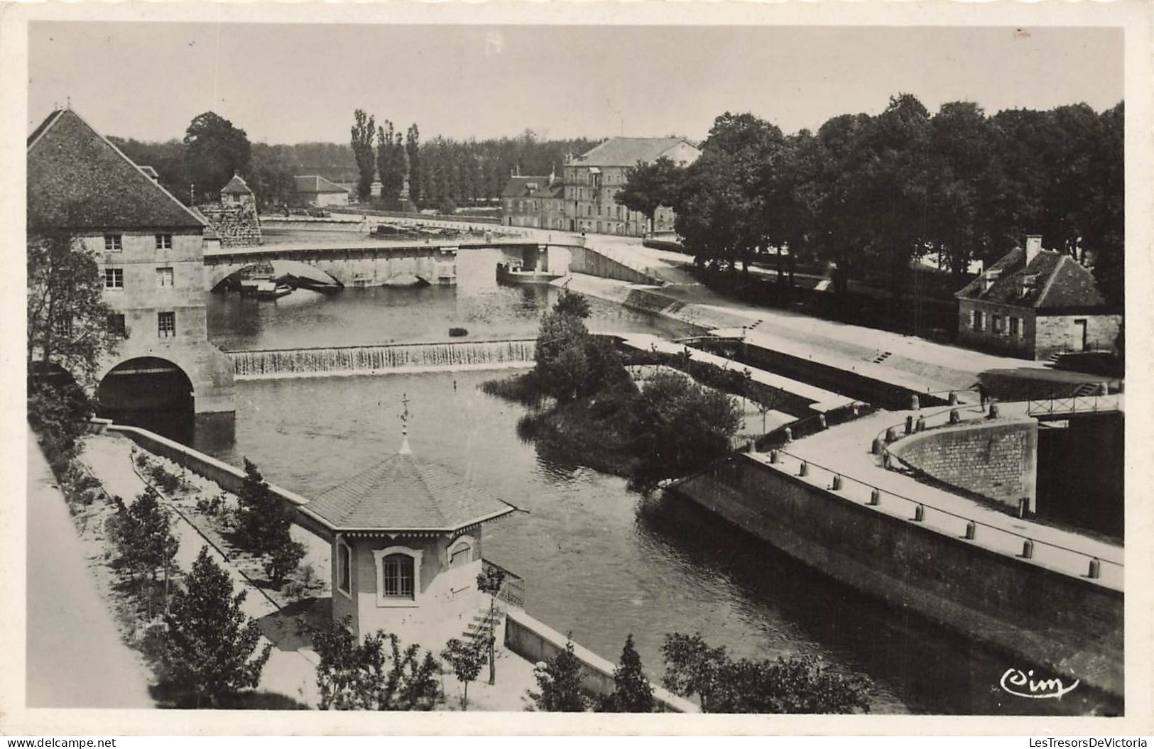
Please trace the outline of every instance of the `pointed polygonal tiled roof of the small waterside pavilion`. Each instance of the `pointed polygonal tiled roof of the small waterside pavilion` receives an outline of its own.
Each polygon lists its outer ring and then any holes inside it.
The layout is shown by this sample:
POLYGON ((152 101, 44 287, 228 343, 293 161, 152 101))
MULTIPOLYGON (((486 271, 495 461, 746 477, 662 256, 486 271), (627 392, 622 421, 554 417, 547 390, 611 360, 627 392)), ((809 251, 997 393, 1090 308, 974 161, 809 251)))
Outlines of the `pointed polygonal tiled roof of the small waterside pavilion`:
POLYGON ((516 508, 447 469, 413 457, 405 440, 388 459, 306 505, 334 531, 452 532, 516 508))

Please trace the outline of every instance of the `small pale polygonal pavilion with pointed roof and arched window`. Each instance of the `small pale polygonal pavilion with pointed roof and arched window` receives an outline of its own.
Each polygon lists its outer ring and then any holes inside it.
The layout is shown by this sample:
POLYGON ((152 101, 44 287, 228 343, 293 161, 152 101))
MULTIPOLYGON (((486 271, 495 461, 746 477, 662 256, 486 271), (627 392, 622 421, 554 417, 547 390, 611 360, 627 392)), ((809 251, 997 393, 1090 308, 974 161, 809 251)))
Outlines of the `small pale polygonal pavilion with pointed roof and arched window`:
POLYGON ((361 636, 383 629, 405 642, 462 637, 488 606, 477 577, 481 530, 516 508, 400 449, 300 508, 331 544, 332 616, 361 636))

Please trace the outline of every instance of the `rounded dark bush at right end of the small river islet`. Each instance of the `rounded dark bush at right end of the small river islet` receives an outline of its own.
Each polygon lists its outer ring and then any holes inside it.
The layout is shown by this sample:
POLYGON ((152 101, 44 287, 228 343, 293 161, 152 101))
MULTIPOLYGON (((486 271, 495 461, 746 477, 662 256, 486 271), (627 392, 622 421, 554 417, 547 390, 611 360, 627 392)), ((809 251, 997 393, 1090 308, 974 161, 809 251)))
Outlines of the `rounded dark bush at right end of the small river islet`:
POLYGON ((631 451, 640 456, 634 484, 644 489, 726 455, 741 414, 726 394, 677 372, 659 372, 634 402, 630 424, 631 451))

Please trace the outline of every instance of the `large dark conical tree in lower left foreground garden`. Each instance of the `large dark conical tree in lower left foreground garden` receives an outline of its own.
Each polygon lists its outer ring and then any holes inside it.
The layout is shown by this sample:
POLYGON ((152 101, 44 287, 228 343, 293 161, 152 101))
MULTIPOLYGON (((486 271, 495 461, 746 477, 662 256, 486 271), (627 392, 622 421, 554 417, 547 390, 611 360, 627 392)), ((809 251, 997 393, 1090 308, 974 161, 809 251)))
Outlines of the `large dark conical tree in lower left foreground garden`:
POLYGON ((272 645, 267 643, 254 658, 261 629, 241 609, 245 594, 233 594, 232 579, 205 546, 185 578, 185 589, 172 597, 162 673, 192 706, 218 706, 260 682, 272 645))

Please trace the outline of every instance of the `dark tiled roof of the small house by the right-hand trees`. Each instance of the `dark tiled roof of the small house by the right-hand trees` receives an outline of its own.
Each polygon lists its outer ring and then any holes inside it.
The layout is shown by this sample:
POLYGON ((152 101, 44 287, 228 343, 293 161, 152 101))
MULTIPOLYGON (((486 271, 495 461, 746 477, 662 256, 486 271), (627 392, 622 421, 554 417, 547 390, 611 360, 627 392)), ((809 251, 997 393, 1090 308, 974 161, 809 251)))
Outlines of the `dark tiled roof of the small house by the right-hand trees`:
POLYGON ((1106 305, 1093 274, 1073 257, 1043 249, 1027 267, 1026 250, 1020 247, 1011 249, 954 295, 958 299, 1032 307, 1039 312, 1106 305), (989 289, 986 287, 987 279, 992 280, 989 289))

